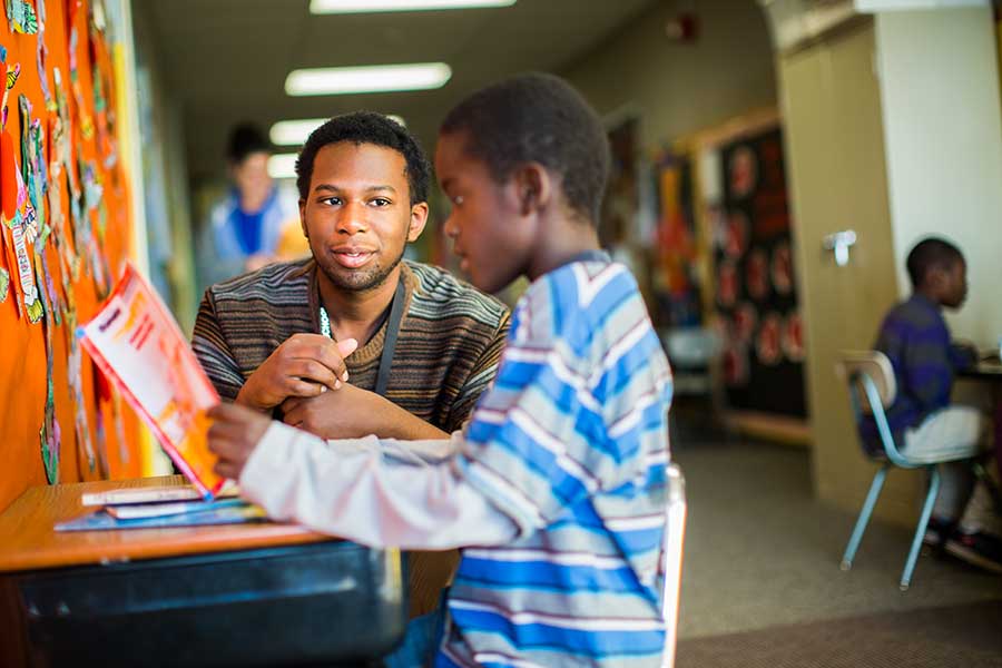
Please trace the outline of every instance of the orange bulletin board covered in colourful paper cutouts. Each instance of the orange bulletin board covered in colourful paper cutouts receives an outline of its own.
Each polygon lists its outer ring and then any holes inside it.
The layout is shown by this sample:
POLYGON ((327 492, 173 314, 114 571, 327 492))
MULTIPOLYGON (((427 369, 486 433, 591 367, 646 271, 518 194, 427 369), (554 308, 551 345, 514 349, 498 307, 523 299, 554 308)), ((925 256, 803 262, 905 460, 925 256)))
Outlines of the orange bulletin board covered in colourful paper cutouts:
POLYGON ((3 0, 0 510, 28 487, 138 477, 138 422, 75 337, 131 243, 100 0, 3 0))

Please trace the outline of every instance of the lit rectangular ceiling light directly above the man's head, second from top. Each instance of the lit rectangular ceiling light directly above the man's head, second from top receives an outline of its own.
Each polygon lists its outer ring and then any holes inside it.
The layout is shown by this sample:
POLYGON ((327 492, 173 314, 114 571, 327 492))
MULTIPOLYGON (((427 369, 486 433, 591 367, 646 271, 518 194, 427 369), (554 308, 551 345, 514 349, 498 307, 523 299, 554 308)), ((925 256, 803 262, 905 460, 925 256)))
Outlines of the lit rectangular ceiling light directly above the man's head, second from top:
POLYGON ((444 62, 303 69, 288 73, 285 92, 304 96, 431 90, 444 86, 451 76, 452 68, 444 62))

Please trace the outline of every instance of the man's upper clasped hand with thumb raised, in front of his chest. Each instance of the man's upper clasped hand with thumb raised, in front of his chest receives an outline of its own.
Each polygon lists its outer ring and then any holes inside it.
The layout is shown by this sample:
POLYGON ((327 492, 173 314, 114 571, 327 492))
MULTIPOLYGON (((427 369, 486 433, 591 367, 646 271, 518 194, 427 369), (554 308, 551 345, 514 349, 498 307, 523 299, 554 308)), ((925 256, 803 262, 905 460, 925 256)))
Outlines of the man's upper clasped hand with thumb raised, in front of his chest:
POLYGON ((338 390, 347 382, 344 358, 356 347, 354 338, 334 343, 320 334, 293 334, 250 374, 236 403, 267 412, 289 396, 338 390))

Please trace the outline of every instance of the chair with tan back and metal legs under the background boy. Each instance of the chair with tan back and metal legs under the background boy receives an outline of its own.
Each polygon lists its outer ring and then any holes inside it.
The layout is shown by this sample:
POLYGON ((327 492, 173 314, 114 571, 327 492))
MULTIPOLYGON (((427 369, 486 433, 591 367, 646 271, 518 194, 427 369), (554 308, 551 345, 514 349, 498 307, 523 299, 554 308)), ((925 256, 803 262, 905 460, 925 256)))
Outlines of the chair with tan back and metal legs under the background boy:
POLYGON ((953 453, 935 461, 931 461, 929 458, 922 458, 921 461, 910 459, 906 453, 898 449, 891 433, 891 428, 887 425, 887 416, 884 413, 884 410, 894 403, 894 397, 897 395, 894 369, 891 366, 891 361, 886 355, 877 351, 845 351, 842 353, 842 360, 836 365, 836 371, 848 382, 849 399, 856 424, 864 416, 873 415, 877 425, 877 432, 881 435, 882 445, 882 452, 873 458, 874 461, 881 464, 881 468, 877 469, 876 474, 873 477, 870 493, 866 494, 863 509, 859 511, 859 518, 856 520, 848 546, 845 548, 845 554, 842 558, 842 570, 849 570, 853 566, 856 550, 863 540, 863 532, 870 522, 870 515, 873 513, 881 489, 884 487, 884 479, 887 477, 887 471, 891 466, 925 469, 929 472, 929 492, 925 494, 925 502, 918 517, 918 525, 915 528, 908 558, 905 561, 904 571, 901 573, 900 587, 902 591, 905 591, 911 584, 915 561, 918 559, 918 550, 922 547, 922 538, 925 536, 929 518, 932 515, 933 505, 940 492, 937 464, 969 460, 978 478, 990 485, 992 483, 988 480, 984 468, 974 459, 979 454, 974 449, 966 453, 953 453))

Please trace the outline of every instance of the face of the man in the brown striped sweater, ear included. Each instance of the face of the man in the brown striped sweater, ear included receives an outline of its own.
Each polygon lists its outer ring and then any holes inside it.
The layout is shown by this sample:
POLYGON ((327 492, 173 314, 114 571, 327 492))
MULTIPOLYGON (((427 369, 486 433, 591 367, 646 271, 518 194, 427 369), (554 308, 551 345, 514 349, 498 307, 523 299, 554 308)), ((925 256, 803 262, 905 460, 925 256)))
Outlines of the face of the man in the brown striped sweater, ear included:
POLYGON ((299 219, 317 266, 334 286, 379 287, 407 242, 421 235, 428 204, 411 205, 405 170, 403 155, 374 144, 340 141, 317 151, 299 219))

